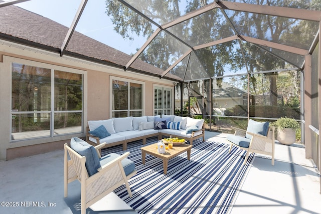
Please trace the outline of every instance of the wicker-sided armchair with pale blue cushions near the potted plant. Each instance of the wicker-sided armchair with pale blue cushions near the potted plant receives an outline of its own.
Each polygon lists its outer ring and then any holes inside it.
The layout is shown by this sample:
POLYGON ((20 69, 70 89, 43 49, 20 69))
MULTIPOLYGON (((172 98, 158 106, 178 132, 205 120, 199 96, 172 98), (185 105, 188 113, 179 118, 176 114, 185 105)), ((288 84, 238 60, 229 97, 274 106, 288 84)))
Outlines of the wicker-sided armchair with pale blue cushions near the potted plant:
POLYGON ((233 146, 246 150, 244 164, 246 164, 250 152, 271 155, 271 164, 274 165, 274 127, 268 127, 267 122, 259 123, 250 120, 247 130, 236 127, 231 128, 235 130, 235 133, 234 135, 228 135, 226 138, 231 144, 229 153, 231 153, 233 146), (265 125, 265 128, 263 128, 263 125, 265 125), (266 134, 263 129, 267 129, 266 134))

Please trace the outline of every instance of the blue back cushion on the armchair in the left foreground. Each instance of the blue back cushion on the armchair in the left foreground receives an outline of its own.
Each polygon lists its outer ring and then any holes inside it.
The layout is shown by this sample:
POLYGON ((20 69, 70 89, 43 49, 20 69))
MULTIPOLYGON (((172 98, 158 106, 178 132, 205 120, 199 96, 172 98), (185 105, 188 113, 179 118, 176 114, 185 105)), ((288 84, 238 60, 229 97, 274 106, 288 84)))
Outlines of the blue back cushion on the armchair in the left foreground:
POLYGON ((86 157, 85 166, 88 175, 91 176, 93 174, 96 174, 98 171, 97 169, 101 166, 96 149, 92 145, 78 137, 71 138, 70 147, 78 154, 86 157))

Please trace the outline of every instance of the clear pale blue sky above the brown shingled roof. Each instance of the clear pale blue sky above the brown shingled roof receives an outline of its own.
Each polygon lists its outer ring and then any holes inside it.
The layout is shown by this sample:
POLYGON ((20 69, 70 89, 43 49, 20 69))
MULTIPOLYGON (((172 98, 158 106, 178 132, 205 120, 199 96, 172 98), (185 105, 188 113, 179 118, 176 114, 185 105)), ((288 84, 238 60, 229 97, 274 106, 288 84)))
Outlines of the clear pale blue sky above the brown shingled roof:
MULTIPOLYGON (((69 28, 80 3, 81 0, 31 0, 15 6, 49 18, 69 28)), ((147 39, 136 37, 134 42, 123 39, 114 32, 114 26, 105 14, 105 10, 105 0, 88 1, 76 31, 126 54, 136 53, 136 49, 139 49, 147 39)))

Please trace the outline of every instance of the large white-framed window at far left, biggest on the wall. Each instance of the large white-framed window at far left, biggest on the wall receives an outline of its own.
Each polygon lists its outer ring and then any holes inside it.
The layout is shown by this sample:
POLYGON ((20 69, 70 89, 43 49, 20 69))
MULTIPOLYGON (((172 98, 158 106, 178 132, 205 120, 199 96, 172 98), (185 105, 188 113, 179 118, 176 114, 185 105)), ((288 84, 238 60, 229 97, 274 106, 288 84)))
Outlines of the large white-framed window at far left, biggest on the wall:
POLYGON ((11 139, 82 132, 83 75, 12 63, 11 139))

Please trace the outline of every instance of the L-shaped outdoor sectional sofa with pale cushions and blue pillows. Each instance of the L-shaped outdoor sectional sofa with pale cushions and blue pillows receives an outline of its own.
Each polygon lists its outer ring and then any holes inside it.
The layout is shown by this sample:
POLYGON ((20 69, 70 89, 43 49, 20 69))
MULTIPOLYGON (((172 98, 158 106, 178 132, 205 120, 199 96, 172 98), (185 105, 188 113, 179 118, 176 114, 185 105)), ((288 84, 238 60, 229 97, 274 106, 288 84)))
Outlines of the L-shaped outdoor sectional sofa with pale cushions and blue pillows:
POLYGON ((203 137, 204 120, 176 115, 119 117, 107 120, 88 121, 86 141, 91 145, 105 142, 104 148, 121 145, 127 149, 127 143, 142 140, 146 143, 148 137, 163 135, 184 138, 193 145, 193 140, 203 137))

